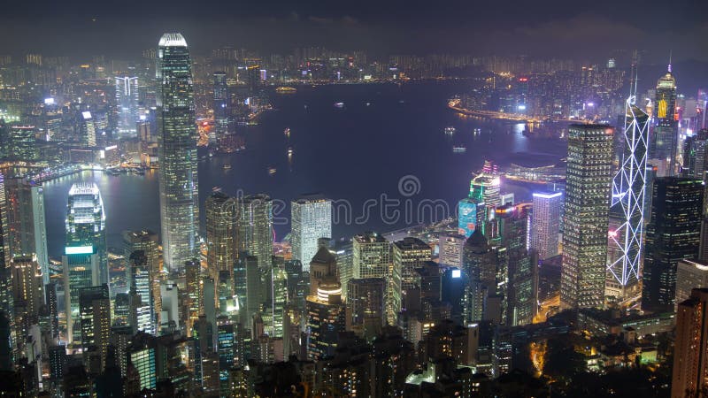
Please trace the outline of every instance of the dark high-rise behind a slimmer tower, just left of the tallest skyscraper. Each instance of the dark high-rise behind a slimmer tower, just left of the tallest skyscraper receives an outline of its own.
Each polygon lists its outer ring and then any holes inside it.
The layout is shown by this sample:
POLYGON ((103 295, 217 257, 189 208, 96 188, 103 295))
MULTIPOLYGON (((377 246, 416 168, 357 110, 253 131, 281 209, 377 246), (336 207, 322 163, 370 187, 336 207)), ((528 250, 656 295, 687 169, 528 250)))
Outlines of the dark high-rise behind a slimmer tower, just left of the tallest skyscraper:
MULTIPOLYGON (((162 266, 159 257, 159 238, 157 233, 151 231, 123 231, 123 258, 125 259, 126 280, 130 280, 130 255, 138 250, 147 257, 150 268, 150 286, 152 289, 152 325, 157 329, 159 314, 162 310, 160 297, 160 281, 163 278, 162 266)), ((128 289, 130 287, 128 286, 128 289)))

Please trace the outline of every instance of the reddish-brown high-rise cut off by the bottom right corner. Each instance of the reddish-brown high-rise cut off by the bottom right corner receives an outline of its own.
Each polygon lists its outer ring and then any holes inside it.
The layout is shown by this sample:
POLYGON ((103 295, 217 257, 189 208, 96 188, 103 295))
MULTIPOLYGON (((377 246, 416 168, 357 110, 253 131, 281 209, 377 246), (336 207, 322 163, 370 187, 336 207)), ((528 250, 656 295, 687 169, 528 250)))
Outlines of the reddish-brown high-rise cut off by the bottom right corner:
POLYGON ((708 289, 695 288, 676 312, 673 344, 672 398, 701 396, 708 388, 708 289))

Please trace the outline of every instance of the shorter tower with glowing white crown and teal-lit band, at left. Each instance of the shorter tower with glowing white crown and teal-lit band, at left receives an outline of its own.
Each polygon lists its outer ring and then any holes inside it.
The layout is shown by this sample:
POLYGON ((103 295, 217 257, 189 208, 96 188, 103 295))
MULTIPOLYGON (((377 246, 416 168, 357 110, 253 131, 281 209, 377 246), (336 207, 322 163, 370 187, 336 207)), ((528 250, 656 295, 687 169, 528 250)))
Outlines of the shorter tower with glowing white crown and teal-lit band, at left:
POLYGON ((96 184, 77 183, 66 206, 64 265, 65 309, 69 341, 81 338, 79 292, 108 283, 104 203, 96 184))

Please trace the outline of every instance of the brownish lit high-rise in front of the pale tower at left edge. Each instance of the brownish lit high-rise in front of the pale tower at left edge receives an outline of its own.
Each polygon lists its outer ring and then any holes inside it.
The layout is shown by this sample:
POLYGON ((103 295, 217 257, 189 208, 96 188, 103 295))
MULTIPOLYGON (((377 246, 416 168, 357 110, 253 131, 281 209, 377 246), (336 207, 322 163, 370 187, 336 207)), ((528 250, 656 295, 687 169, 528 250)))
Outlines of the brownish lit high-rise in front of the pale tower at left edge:
POLYGON ((42 272, 36 256, 14 256, 11 260, 12 294, 18 342, 27 339, 32 325, 38 325, 44 299, 42 272))

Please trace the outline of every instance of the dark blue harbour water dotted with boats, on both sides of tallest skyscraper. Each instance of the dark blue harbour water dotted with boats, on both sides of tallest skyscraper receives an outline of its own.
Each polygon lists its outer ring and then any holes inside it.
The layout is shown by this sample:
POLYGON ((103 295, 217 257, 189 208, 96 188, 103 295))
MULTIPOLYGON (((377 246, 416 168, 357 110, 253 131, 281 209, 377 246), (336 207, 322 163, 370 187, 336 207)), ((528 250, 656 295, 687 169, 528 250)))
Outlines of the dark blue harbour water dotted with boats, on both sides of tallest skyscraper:
MULTIPOLYGON (((447 98, 465 89, 464 82, 424 82, 301 87, 296 94, 273 94, 275 111, 263 114, 258 126, 238 127, 245 150, 199 162, 200 201, 215 187, 230 195, 271 195, 277 200, 275 235, 281 240, 289 232, 289 201, 319 192, 349 203, 350 217, 341 214, 333 228, 335 238, 341 238, 429 221, 409 214, 425 201, 446 203, 454 216, 471 173, 485 159, 503 166, 547 165, 566 156, 566 142, 529 138, 523 124, 482 122, 450 111, 447 98), (454 126, 455 133, 445 134, 447 126, 454 126), (453 146, 466 151, 453 153, 453 146), (383 209, 389 200, 398 204, 383 209), (386 213, 394 210, 399 211, 386 213)), ((159 231, 157 177, 157 172, 83 172, 45 183, 50 256, 59 256, 63 247, 73 182, 96 181, 104 198, 108 245, 118 247, 123 230, 159 231)), ((517 200, 530 197, 529 188, 518 184, 502 191, 514 192, 517 200)))

